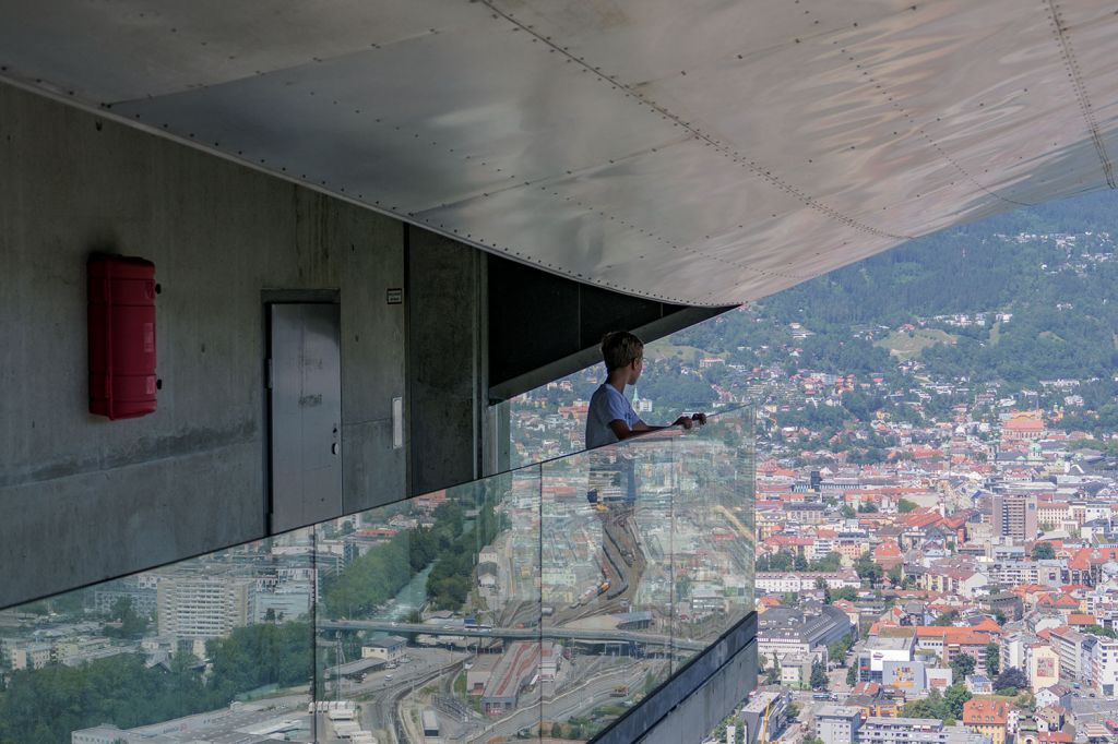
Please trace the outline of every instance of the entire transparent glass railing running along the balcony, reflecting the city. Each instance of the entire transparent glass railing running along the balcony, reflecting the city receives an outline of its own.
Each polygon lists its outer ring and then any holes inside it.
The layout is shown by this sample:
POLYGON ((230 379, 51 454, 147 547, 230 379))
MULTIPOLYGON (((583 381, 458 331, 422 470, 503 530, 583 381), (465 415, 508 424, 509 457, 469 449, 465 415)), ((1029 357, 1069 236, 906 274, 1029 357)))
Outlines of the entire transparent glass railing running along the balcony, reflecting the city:
POLYGON ((752 425, 8 609, 0 743, 589 740, 752 610, 752 425))

